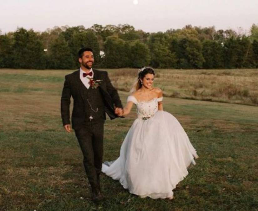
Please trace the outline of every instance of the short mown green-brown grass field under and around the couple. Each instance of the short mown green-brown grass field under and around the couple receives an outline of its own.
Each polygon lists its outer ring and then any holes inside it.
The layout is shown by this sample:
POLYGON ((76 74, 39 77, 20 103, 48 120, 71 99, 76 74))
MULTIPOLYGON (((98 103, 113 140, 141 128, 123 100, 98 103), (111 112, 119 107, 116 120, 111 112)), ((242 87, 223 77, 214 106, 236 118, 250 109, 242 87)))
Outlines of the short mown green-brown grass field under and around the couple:
MULTIPOLYGON (((117 71, 109 70, 113 83, 117 71)), ((209 76, 211 70, 202 71, 209 76)), ((164 110, 180 121, 200 158, 175 199, 141 199, 101 175, 107 199, 92 203, 77 140, 60 118, 63 79, 70 72, 0 70, 1 211, 258 210, 258 107, 180 98, 164 98, 164 110)), ((128 93, 119 94, 125 104, 128 93)), ((104 160, 119 156, 134 118, 133 112, 106 121, 104 160)))

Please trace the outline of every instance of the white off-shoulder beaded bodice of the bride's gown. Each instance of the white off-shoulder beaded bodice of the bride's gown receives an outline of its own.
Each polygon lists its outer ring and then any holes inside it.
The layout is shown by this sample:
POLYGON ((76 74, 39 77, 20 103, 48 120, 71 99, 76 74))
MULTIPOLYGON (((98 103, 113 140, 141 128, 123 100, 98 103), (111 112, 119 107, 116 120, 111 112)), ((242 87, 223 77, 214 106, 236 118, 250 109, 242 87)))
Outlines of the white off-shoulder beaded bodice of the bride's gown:
POLYGON ((158 102, 162 101, 163 97, 153 98, 149 101, 138 102, 137 99, 130 95, 127 101, 131 101, 136 105, 137 117, 139 119, 149 119, 158 111, 158 102))

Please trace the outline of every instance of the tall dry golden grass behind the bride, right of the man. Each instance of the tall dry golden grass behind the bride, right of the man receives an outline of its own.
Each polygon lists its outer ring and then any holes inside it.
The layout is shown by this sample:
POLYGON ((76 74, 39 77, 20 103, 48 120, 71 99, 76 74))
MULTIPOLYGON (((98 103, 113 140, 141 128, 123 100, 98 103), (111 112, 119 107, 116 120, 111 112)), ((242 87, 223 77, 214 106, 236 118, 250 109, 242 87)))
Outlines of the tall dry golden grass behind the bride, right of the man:
MULTIPOLYGON (((156 73, 155 86, 167 97, 258 105, 257 69, 158 69, 156 73)), ((137 70, 110 70, 110 78, 116 88, 129 91, 137 78, 137 70)))

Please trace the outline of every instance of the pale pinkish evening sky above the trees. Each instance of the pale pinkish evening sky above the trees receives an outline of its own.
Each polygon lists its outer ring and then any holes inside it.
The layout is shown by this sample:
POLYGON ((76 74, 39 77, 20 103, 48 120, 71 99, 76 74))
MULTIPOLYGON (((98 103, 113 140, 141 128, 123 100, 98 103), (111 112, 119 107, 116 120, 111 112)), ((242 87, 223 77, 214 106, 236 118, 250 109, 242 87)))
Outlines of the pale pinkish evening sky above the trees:
POLYGON ((185 25, 248 33, 258 24, 258 0, 0 0, 0 30, 126 24, 145 32, 185 25), (242 29, 240 29, 240 27, 242 29))

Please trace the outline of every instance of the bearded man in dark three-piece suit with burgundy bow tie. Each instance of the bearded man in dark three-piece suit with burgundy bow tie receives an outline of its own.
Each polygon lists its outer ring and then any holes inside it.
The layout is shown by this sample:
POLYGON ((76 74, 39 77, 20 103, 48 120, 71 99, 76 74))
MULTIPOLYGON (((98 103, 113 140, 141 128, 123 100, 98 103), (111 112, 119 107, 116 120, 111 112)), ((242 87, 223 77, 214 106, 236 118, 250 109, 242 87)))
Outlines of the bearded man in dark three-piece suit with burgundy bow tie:
POLYGON ((72 127, 83 153, 83 164, 92 188, 93 200, 104 197, 100 192, 99 175, 102 168, 103 132, 106 113, 110 119, 119 117, 122 103, 106 71, 92 68, 91 48, 78 52, 80 68, 65 76, 61 97, 63 126, 71 132, 70 98, 73 97, 72 127))

